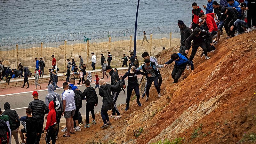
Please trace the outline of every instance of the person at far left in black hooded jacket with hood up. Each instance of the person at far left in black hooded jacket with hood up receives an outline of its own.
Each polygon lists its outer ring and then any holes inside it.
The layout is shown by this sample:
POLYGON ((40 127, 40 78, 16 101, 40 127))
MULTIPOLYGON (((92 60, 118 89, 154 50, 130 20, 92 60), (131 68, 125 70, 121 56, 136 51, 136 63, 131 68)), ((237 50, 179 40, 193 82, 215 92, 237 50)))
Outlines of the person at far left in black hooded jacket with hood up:
POLYGON ((20 126, 20 117, 18 116, 17 112, 15 110, 11 109, 11 106, 9 104, 9 102, 4 103, 4 115, 7 115, 10 117, 10 120, 12 122, 12 125, 10 125, 11 131, 12 131, 12 135, 14 137, 14 140, 16 142, 16 144, 19 144, 19 126, 20 126))

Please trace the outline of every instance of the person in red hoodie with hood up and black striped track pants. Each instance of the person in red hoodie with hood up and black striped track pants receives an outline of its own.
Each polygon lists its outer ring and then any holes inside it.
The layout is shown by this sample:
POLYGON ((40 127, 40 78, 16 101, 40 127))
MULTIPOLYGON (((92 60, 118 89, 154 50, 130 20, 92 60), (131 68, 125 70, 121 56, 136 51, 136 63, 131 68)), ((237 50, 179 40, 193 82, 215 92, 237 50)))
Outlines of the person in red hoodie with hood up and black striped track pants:
POLYGON ((51 144, 50 138, 52 139, 52 144, 55 144, 57 129, 58 129, 58 124, 56 121, 56 112, 54 108, 54 102, 51 101, 49 103, 49 113, 47 116, 46 126, 44 128, 45 132, 47 132, 45 136, 46 144, 51 144))

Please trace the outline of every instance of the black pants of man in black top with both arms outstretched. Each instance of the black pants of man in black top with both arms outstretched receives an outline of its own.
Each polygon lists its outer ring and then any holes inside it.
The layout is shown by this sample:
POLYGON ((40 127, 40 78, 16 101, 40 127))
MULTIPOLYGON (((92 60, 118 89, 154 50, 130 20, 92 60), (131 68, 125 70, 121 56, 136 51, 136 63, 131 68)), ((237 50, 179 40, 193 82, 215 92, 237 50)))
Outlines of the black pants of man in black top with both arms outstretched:
POLYGON ((137 97, 137 103, 140 102, 140 89, 139 89, 139 84, 130 84, 128 83, 127 86, 127 97, 126 97, 126 107, 129 107, 130 105, 130 99, 131 99, 131 95, 132 95, 132 90, 135 91, 136 93, 136 97, 137 97))

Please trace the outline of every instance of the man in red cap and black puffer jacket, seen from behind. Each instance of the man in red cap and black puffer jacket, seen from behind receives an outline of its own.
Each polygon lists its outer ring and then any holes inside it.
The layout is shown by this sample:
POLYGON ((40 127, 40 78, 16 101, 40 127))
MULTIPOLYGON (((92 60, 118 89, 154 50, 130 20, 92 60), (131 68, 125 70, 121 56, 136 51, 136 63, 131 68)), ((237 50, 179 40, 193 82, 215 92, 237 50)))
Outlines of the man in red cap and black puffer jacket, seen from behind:
MULTIPOLYGON (((36 117, 37 123, 39 125, 39 129, 43 130, 44 115, 48 113, 49 109, 47 108, 43 100, 38 99, 38 93, 36 91, 34 91, 32 95, 34 100, 28 104, 28 108, 32 109, 33 116, 36 117)), ((36 137, 35 144, 39 144, 41 134, 42 134, 42 131, 40 131, 39 135, 36 137)))

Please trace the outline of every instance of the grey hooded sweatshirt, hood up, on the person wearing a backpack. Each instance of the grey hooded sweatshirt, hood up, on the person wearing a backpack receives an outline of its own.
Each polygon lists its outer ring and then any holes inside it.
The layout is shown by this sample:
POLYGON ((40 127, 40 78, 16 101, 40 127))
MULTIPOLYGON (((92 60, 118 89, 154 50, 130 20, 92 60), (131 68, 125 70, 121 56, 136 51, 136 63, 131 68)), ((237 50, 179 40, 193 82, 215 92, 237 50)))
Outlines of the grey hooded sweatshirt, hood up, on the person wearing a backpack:
POLYGON ((47 107, 49 107, 49 103, 53 100, 53 97, 55 97, 55 95, 56 95, 56 99, 58 99, 60 102, 60 108, 57 111, 63 112, 62 100, 60 98, 60 95, 58 93, 54 92, 54 87, 52 84, 48 85, 48 94, 45 96, 45 104, 47 107))

